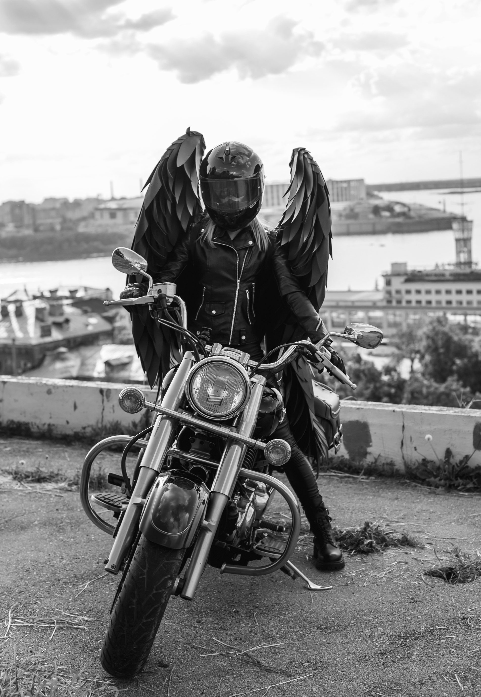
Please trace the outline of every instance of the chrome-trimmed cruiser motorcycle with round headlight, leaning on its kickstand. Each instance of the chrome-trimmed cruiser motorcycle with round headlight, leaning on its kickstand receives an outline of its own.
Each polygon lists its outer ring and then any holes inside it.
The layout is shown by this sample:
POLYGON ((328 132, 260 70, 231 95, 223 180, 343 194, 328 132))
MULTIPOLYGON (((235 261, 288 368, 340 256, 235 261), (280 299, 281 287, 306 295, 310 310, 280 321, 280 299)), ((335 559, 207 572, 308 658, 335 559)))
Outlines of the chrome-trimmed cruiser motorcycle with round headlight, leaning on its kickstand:
MULTIPOLYGON (((171 595, 194 599, 207 564, 221 574, 265 576, 281 569, 303 579, 310 590, 323 590, 289 559, 300 512, 293 493, 270 475, 291 455, 286 441, 270 438, 285 415, 272 376, 303 355, 351 388, 356 385, 330 362, 323 343, 295 342, 274 362, 267 362, 270 354, 254 362, 234 348, 208 346, 188 331, 185 303, 175 284, 153 284, 146 261, 125 247, 114 250, 112 263, 123 273, 145 276, 148 291, 105 305, 148 305, 155 321, 178 332, 183 344, 180 362, 162 382, 160 399, 147 401, 137 387, 119 395, 124 411, 135 414, 146 408, 155 414, 153 423, 134 437, 100 441, 82 468, 84 511, 114 539, 105 571, 121 573, 100 660, 107 673, 129 677, 142 671, 171 595), (109 447, 122 450, 122 475, 108 477, 120 491, 89 495, 92 466, 109 447), (129 473, 128 457, 137 450, 129 473), (276 492, 289 507, 290 527, 264 518, 276 492), (99 508, 112 512, 115 526, 99 508), (278 533, 288 533, 287 541, 278 533), (262 560, 268 563, 250 565, 262 560)), ((330 332, 323 342, 329 337, 375 348, 383 335, 371 325, 351 324, 342 334, 330 332)), ((314 383, 314 392, 316 416, 337 449, 342 436, 339 397, 320 383, 314 383)))

